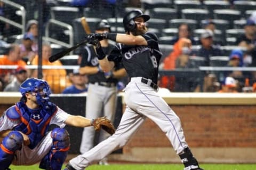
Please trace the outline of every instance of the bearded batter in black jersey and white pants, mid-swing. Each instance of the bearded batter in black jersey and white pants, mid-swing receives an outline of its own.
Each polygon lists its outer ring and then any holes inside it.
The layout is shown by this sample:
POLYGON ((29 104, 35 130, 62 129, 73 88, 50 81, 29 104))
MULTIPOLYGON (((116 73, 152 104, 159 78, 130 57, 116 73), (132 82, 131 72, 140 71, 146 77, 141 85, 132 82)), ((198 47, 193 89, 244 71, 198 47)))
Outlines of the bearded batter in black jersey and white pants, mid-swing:
POLYGON ((149 15, 133 10, 123 19, 126 34, 103 33, 89 36, 91 44, 96 46, 101 68, 109 71, 122 62, 131 81, 124 89, 126 109, 116 133, 91 150, 71 159, 66 170, 82 170, 115 149, 122 148, 146 118, 153 120, 166 134, 185 165, 185 170, 203 170, 188 148, 179 117, 157 94, 158 66, 162 53, 159 51, 157 36, 146 29, 145 22, 149 19, 149 15), (123 45, 117 45, 106 57, 99 44, 102 38, 123 45))

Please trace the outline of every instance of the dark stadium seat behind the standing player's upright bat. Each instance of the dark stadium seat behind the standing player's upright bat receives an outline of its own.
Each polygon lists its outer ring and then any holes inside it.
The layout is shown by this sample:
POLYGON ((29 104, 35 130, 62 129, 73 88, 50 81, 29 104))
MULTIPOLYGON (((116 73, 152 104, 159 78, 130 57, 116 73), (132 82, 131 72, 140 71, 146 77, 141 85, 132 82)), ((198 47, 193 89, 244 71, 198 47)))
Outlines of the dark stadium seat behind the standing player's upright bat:
MULTIPOLYGON (((91 32, 95 32, 96 24, 101 21, 100 18, 86 18, 86 21, 88 22, 88 25, 91 29, 91 32)), ((81 25, 81 18, 77 18, 73 20, 72 23, 73 30, 74 30, 74 43, 81 43, 84 41, 84 38, 86 36, 85 31, 81 25)))

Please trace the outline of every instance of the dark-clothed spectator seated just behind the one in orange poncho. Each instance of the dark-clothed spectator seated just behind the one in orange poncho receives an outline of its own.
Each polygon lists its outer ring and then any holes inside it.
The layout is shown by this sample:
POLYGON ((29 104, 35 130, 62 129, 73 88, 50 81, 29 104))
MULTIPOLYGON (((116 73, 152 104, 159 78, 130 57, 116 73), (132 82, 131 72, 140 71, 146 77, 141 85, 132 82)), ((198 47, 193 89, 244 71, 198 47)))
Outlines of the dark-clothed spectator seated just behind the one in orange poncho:
POLYGON ((192 45, 197 45, 195 38, 191 37, 191 28, 187 23, 181 23, 178 27, 178 36, 174 37, 170 44, 173 45, 179 41, 180 38, 188 38, 190 39, 192 45))

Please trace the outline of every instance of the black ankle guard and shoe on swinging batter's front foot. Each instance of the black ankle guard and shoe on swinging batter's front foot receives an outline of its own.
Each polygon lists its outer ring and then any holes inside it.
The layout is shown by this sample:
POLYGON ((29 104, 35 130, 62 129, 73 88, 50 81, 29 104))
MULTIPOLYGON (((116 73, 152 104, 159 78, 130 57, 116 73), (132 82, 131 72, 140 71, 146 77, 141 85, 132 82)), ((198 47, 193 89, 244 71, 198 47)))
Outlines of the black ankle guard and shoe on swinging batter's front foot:
POLYGON ((181 162, 185 165, 184 170, 203 170, 199 167, 196 158, 193 156, 189 148, 185 148, 180 155, 181 162))

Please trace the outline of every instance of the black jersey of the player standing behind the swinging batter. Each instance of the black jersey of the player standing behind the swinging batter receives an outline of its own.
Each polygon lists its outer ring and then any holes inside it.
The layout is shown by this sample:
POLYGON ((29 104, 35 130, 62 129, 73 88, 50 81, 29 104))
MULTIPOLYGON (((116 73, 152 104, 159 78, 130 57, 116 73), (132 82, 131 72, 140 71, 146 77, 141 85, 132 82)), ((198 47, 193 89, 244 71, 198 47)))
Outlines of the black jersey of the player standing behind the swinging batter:
MULTIPOLYGON (((114 45, 109 44, 108 47, 102 47, 102 50, 106 55, 109 55, 114 47, 115 47, 114 45)), ((92 45, 85 46, 82 52, 82 61, 81 61, 80 67, 85 67, 85 66, 91 66, 91 67, 99 66, 99 60, 97 58, 97 54, 95 53, 95 50, 92 45)), ((116 69, 120 69, 120 68, 122 68, 122 65, 119 65, 116 67, 116 69)), ((108 82, 108 83, 117 84, 118 82, 118 79, 116 78, 113 78, 113 77, 106 78, 103 71, 99 71, 96 74, 91 74, 87 76, 89 79, 89 83, 108 82)))

